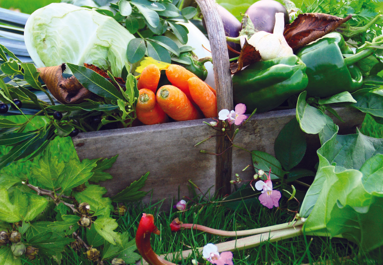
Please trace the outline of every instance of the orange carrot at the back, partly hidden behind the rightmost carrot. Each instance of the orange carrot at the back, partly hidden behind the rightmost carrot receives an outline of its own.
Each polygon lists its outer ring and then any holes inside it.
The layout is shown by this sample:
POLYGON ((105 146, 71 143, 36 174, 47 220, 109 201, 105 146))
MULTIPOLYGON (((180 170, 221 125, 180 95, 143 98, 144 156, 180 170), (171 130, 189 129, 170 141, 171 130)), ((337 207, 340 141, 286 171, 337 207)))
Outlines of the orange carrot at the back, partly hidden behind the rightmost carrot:
MULTIPOLYGON (((166 69, 165 73, 166 73, 166 76, 167 76, 168 80, 170 81, 170 83, 172 83, 173 86, 177 86, 177 88, 181 89, 182 92, 186 94, 188 99, 190 99, 190 101, 193 101, 193 99, 191 98, 191 95, 190 95, 190 91, 189 91, 188 80, 191 77, 197 77, 197 76, 195 74, 193 74, 192 72, 190 72, 189 70, 187 70, 185 67, 182 67, 181 65, 177 65, 177 64, 169 65, 169 67, 166 69)), ((211 86, 209 86, 208 84, 206 84, 206 85, 210 88, 210 90, 215 95, 216 94, 215 89, 212 88, 211 86)))

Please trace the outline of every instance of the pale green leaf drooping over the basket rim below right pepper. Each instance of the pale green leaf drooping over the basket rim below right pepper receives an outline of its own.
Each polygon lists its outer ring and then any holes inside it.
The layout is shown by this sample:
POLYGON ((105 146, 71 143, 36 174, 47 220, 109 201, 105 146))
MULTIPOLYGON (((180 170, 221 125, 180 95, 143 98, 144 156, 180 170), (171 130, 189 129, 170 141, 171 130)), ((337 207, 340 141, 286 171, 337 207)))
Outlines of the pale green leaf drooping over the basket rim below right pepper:
POLYGON ((321 110, 306 102, 306 94, 306 91, 303 91, 298 97, 296 120, 303 132, 316 134, 326 125, 326 116, 321 110))

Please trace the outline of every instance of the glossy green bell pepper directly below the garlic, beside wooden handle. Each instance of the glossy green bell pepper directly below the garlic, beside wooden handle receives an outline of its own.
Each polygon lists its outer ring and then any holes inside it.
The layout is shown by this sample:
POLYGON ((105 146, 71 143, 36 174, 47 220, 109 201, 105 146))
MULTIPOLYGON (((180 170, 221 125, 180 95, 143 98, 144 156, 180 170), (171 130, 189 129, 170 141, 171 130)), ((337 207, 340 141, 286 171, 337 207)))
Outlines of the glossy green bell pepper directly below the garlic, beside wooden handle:
POLYGON ((290 96, 301 93, 308 79, 306 65, 296 55, 255 62, 232 77, 234 103, 257 112, 274 109, 290 96))

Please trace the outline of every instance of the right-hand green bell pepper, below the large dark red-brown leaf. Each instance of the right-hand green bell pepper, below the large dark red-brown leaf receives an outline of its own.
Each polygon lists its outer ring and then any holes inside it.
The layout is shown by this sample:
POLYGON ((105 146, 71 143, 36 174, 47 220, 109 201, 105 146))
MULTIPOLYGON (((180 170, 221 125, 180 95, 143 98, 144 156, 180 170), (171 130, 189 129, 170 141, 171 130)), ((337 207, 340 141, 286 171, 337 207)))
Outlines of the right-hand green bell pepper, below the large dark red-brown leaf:
POLYGON ((355 64, 347 65, 342 54, 354 53, 337 32, 329 33, 296 52, 307 67, 307 96, 323 98, 344 91, 352 93, 362 86, 362 72, 355 64))

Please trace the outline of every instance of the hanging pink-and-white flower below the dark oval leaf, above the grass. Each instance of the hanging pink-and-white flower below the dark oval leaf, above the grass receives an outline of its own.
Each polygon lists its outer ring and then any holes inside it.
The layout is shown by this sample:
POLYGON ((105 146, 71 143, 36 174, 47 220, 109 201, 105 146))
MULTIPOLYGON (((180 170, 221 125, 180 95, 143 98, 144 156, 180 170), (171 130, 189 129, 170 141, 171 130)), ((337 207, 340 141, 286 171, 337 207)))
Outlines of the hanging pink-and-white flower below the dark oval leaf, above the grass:
POLYGON ((281 198, 281 193, 279 190, 273 190, 273 182, 270 180, 270 172, 268 172, 267 180, 263 182, 258 180, 255 182, 255 189, 262 190, 262 194, 259 195, 259 202, 267 208, 271 209, 273 206, 279 206, 279 199, 281 198))

